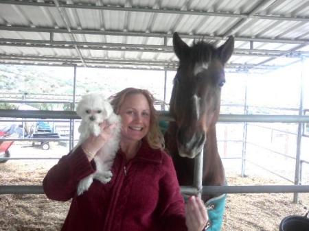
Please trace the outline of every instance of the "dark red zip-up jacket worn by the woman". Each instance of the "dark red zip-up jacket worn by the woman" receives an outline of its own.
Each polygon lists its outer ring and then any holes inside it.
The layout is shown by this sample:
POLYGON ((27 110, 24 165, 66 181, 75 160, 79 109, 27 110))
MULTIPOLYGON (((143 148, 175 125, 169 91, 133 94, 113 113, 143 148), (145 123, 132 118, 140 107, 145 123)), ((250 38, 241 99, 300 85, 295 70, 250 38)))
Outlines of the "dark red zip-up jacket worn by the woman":
POLYGON ((93 173, 81 148, 63 156, 43 180, 50 199, 71 207, 62 231, 187 230, 184 202, 172 159, 144 141, 137 156, 126 162, 118 151, 111 182, 93 180, 88 191, 76 195, 78 182, 93 173))

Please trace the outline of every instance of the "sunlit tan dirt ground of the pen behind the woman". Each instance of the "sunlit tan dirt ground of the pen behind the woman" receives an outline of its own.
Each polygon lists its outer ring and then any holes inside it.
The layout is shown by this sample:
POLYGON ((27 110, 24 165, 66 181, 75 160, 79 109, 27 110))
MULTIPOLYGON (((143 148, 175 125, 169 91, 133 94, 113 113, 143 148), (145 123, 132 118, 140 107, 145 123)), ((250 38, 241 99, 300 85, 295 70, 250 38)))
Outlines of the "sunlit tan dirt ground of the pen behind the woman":
MULTIPOLYGON (((23 157, 58 157, 67 152, 58 145, 48 151, 13 145, 12 157, 21 156, 21 150, 23 157)), ((56 161, 10 160, 0 165, 0 185, 39 185, 56 161)), ((227 171, 227 180, 229 185, 289 184, 272 176, 241 178, 231 170, 227 171)), ((305 215, 309 193, 300 193, 299 199, 299 204, 293 204, 293 193, 229 194, 222 231, 277 231, 284 217, 305 215)), ((45 195, 0 195, 0 230, 60 230, 68 208, 69 202, 54 202, 45 195)))

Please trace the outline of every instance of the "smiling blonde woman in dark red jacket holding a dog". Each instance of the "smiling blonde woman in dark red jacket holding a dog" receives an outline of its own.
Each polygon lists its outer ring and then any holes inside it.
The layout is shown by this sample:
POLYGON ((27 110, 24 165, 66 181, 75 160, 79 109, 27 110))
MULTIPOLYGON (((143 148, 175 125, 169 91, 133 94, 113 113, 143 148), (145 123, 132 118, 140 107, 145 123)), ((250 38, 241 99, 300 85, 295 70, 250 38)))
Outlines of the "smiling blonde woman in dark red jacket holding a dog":
POLYGON ((196 197, 184 206, 172 159, 163 151, 152 95, 126 88, 111 98, 111 104, 122 117, 111 182, 94 180, 88 191, 76 195, 78 182, 95 171, 93 158, 113 130, 105 123, 99 136, 63 156, 43 180, 50 199, 73 198, 62 230, 203 230, 207 211, 196 197))

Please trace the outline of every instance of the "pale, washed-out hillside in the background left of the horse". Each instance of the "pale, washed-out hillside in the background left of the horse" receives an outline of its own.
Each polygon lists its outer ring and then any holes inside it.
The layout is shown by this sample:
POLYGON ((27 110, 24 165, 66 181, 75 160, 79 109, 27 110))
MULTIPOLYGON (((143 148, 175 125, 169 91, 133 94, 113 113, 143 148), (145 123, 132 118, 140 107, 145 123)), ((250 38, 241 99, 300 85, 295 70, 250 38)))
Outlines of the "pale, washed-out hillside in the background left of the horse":
MULTIPOLYGON (((129 86, 150 89, 157 99, 163 99, 163 80, 163 72, 158 71, 149 73, 149 71, 78 68, 76 100, 78 101, 80 95, 89 92, 100 92, 108 97, 129 86)), ((73 101, 73 68, 0 65, 0 90, 0 100, 27 98, 73 101)), ((58 108, 50 104, 30 105, 41 110, 58 108)), ((61 107, 60 110, 62 110, 61 107)), ((0 103, 0 108, 12 109, 14 106, 0 103)))

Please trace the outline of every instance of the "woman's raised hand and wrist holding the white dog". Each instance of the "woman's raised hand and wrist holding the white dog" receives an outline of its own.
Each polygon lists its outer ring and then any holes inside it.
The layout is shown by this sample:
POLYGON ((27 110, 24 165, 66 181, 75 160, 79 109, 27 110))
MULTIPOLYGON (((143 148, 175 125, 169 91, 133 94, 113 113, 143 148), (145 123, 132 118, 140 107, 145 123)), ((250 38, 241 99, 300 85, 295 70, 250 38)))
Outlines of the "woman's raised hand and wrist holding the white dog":
POLYGON ((89 161, 91 161, 95 154, 104 146, 106 141, 108 141, 113 136, 113 130, 115 128, 115 123, 108 124, 106 121, 100 123, 101 133, 98 136, 91 134, 84 143, 82 143, 82 149, 89 161))

